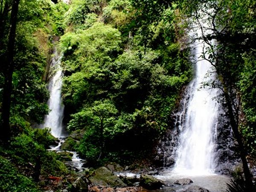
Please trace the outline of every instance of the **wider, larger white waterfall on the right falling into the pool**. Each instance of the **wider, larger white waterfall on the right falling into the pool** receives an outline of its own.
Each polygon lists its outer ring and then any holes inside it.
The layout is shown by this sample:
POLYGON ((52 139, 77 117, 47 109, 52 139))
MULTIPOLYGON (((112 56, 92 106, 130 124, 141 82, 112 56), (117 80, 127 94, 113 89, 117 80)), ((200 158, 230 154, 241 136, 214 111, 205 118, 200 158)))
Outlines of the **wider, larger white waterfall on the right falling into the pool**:
MULTIPOLYGON (((198 30, 194 36, 200 37, 200 34, 201 30, 198 30)), ((215 169, 219 89, 204 86, 206 82, 216 80, 212 65, 200 57, 205 51, 204 46, 202 40, 195 40, 192 45, 195 76, 189 84, 177 118, 181 133, 173 172, 179 174, 207 175, 215 169)))

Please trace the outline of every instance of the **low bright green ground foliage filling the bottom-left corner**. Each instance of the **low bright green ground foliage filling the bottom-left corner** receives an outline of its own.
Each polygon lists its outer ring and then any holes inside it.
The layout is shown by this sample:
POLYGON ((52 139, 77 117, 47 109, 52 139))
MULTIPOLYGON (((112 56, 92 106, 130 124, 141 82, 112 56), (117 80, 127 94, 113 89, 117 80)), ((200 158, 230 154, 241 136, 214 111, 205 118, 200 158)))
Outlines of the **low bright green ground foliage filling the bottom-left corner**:
POLYGON ((35 183, 21 175, 17 168, 0 156, 0 191, 4 192, 39 192, 35 183))

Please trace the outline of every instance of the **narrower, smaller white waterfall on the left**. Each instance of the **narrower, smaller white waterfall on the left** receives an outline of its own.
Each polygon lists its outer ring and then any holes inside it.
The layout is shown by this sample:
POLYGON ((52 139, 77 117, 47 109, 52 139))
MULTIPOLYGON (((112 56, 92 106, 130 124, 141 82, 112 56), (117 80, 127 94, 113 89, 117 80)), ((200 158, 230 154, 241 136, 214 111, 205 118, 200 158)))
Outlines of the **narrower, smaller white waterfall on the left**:
POLYGON ((49 82, 50 98, 48 101, 49 114, 44 119, 44 127, 50 128, 54 137, 61 137, 63 130, 63 113, 64 106, 61 102, 61 86, 62 86, 62 69, 61 69, 61 55, 57 50, 54 51, 52 57, 51 69, 54 76, 49 82))

